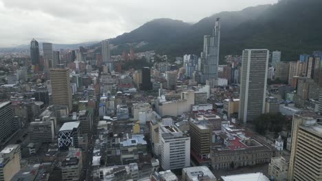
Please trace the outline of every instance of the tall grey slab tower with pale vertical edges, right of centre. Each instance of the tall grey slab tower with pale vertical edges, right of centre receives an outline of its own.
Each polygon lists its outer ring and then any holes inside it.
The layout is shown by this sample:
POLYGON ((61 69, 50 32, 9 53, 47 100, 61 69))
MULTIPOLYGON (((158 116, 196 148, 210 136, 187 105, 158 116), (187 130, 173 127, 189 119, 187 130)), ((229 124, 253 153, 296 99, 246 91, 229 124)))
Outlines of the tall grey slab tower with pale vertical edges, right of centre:
POLYGON ((244 123, 265 112, 268 57, 268 49, 243 51, 238 118, 244 123))

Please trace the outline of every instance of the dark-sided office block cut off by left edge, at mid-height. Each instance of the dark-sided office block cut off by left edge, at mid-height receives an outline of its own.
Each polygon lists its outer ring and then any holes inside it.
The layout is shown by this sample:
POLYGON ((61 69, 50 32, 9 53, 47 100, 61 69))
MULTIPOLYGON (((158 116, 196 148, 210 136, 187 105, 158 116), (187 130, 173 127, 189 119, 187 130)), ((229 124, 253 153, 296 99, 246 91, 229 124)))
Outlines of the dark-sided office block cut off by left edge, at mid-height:
POLYGON ((13 108, 10 101, 0 104, 0 141, 3 142, 12 133, 13 108))

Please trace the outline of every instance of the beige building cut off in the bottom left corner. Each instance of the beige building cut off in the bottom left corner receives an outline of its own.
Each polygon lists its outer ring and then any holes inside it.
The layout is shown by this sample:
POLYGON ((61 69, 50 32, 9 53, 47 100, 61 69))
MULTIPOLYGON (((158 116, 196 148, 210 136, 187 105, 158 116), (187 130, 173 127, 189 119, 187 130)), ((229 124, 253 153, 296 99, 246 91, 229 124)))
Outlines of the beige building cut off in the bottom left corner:
POLYGON ((21 169, 20 145, 8 145, 0 152, 0 181, 10 181, 21 169))

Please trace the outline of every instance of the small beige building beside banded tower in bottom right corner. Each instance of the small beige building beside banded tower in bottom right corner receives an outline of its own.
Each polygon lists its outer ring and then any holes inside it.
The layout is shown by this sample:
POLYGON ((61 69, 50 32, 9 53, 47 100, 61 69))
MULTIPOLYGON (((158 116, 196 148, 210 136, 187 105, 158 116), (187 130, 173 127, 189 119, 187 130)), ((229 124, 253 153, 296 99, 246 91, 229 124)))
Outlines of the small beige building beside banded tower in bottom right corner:
POLYGON ((276 181, 286 181, 288 178, 289 159, 283 156, 274 157, 268 165, 268 176, 276 181))

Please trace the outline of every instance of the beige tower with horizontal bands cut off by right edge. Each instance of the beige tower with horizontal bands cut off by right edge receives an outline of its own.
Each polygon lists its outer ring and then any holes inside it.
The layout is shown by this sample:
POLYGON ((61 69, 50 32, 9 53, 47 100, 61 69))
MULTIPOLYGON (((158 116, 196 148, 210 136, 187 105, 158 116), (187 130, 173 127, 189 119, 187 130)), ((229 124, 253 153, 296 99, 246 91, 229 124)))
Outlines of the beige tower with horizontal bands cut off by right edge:
POLYGON ((322 123, 306 115, 293 115, 288 180, 322 180, 322 123))

